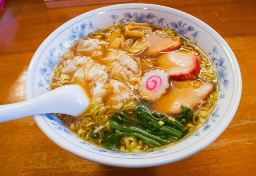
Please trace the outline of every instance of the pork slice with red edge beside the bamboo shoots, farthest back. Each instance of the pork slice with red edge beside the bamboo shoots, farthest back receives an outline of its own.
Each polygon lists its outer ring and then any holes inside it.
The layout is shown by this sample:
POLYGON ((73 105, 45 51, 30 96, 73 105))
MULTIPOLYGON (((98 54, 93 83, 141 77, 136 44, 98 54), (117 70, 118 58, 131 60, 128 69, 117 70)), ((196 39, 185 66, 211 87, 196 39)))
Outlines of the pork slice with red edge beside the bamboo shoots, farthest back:
POLYGON ((181 42, 178 37, 161 37, 159 35, 150 35, 146 37, 150 45, 146 54, 152 55, 158 52, 167 52, 180 48, 181 42))

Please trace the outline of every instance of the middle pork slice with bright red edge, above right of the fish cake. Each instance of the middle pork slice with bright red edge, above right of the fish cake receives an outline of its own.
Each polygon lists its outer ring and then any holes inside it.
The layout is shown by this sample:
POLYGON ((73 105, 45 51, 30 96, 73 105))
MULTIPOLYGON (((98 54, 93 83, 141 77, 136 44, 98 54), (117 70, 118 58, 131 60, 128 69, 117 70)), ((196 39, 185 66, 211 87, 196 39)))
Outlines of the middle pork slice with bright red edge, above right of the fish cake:
POLYGON ((168 69, 171 80, 193 80, 200 72, 200 61, 194 52, 179 50, 164 54, 157 60, 160 67, 168 69))

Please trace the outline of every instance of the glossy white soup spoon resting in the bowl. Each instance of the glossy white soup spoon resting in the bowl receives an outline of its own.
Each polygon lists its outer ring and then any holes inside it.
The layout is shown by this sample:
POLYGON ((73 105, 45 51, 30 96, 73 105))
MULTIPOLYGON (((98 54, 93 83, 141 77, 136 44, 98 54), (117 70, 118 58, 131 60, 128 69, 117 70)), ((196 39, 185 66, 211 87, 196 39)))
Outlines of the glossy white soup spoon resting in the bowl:
POLYGON ((46 113, 78 116, 88 104, 88 98, 80 86, 62 86, 31 100, 1 105, 0 122, 46 113))

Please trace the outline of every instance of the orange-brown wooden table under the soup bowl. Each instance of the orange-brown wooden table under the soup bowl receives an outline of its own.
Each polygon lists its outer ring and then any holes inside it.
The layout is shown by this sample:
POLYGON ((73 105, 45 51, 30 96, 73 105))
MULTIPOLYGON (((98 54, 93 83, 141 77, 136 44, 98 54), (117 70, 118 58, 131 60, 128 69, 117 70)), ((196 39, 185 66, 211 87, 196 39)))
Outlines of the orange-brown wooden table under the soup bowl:
MULTIPOLYGON (((33 118, 0 123, 0 176, 256 176, 256 1, 136 0, 176 8, 216 30, 242 72, 232 122, 212 144, 182 161, 153 168, 115 168, 83 160, 48 139, 33 118)), ((100 4, 46 9, 42 0, 6 0, 0 11, 0 105, 26 100, 25 79, 36 49, 56 28, 100 4)))

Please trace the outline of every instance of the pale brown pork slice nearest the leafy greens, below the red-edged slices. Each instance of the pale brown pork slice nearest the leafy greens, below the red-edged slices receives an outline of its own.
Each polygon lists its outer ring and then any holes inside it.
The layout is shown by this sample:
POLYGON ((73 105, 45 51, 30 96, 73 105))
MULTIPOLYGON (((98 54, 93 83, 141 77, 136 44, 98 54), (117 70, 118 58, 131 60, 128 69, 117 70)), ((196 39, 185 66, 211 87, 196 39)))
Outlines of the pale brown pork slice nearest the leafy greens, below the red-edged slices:
POLYGON ((212 82, 202 82, 199 88, 192 85, 192 81, 186 84, 174 83, 172 91, 156 100, 153 109, 166 114, 179 114, 181 106, 195 110, 214 90, 215 84, 212 82))

